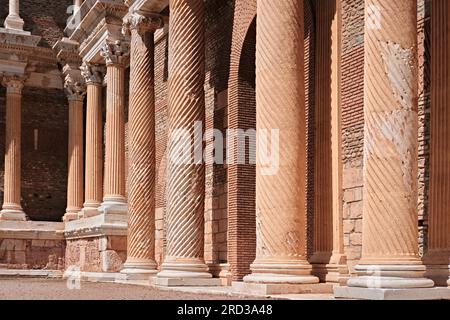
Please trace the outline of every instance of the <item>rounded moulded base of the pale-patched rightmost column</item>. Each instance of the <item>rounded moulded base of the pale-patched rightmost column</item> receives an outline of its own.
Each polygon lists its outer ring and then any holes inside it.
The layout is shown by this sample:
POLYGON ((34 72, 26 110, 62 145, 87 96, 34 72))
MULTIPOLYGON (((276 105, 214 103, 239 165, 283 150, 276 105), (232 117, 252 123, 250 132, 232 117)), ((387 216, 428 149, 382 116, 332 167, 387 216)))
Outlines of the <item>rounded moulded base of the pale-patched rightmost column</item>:
POLYGON ((357 277, 347 281, 349 287, 376 289, 432 288, 433 280, 425 278, 424 265, 358 265, 357 277))

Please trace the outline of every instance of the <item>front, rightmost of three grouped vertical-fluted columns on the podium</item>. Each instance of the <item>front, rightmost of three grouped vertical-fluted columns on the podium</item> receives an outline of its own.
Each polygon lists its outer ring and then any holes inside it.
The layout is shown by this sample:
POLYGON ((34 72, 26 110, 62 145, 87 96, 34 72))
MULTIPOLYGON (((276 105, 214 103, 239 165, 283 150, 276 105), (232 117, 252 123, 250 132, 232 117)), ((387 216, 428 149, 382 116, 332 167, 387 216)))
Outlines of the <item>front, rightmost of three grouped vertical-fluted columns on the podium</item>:
POLYGON ((106 137, 104 213, 126 214, 125 199, 125 67, 128 43, 116 41, 102 48, 106 61, 106 137))

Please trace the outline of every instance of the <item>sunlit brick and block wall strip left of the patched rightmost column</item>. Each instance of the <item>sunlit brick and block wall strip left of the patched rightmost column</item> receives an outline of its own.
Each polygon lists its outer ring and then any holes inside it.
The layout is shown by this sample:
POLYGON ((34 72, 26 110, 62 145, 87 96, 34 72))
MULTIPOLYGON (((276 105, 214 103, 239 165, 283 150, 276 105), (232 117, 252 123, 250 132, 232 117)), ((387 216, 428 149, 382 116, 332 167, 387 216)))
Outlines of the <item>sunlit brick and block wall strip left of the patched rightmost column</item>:
POLYGON ((342 1, 344 246, 350 271, 361 257, 364 141, 364 0, 342 1))

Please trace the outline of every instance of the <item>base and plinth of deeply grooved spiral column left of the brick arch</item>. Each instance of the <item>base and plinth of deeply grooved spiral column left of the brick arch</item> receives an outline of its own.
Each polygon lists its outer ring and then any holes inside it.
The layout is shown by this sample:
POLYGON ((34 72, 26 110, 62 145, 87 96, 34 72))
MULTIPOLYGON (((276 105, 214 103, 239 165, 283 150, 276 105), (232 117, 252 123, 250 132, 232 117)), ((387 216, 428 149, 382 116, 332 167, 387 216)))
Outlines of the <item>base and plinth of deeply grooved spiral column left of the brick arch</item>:
POLYGON ((220 286, 221 280, 213 278, 204 263, 165 262, 155 284, 166 287, 210 287, 220 286))

